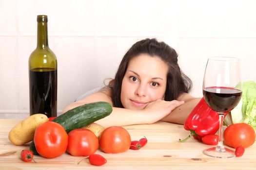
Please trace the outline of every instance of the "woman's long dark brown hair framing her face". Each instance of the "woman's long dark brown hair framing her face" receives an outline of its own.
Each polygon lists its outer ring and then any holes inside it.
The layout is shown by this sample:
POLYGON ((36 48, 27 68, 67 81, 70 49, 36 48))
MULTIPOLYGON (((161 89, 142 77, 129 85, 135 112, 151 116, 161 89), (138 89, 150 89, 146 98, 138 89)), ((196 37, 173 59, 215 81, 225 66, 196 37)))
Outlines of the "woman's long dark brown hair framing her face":
POLYGON ((177 64, 177 52, 164 42, 158 42, 155 38, 147 38, 136 42, 125 53, 117 70, 115 79, 109 83, 109 85, 112 86, 112 101, 114 107, 123 108, 120 97, 122 79, 130 60, 142 53, 149 54, 152 57, 159 57, 169 66, 164 97, 165 101, 176 100, 181 93, 188 93, 191 90, 192 81, 181 71, 177 64))

